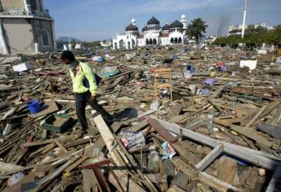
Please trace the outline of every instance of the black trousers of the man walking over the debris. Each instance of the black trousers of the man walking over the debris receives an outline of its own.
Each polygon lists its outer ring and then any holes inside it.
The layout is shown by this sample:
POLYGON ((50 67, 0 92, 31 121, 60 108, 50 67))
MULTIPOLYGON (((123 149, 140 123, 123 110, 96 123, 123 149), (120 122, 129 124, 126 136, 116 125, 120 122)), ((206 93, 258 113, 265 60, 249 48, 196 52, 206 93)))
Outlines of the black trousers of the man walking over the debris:
POLYGON ((86 105, 87 104, 89 104, 93 109, 98 111, 98 113, 101 116, 103 116, 105 121, 112 120, 112 116, 110 114, 108 114, 107 111, 105 111, 105 109, 103 109, 103 107, 101 107, 98 104, 98 101, 96 100, 96 98, 95 98, 95 100, 90 101, 90 97, 91 97, 90 91, 84 92, 84 93, 75 93, 74 96, 75 96, 76 114, 78 116, 78 120, 79 120, 82 130, 86 131, 88 128, 88 123, 86 120, 86 105))

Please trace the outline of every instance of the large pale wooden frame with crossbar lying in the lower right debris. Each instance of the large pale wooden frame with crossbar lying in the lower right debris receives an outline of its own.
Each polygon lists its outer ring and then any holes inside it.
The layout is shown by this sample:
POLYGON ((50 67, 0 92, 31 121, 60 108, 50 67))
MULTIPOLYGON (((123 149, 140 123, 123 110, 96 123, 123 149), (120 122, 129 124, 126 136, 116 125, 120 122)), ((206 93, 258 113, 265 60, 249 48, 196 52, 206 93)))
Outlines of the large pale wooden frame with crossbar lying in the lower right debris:
POLYGON ((218 191, 228 191, 228 189, 232 189, 233 191, 243 191, 242 188, 237 188, 230 184, 226 184, 226 182, 223 182, 211 176, 210 174, 203 172, 203 170, 207 168, 221 153, 228 153, 231 156, 241 158, 242 160, 247 160, 249 163, 253 163, 259 167, 264 167, 267 170, 274 171, 275 174, 270 180, 270 184, 268 184, 266 192, 278 191, 278 189, 275 187, 281 186, 281 184, 277 184, 278 180, 280 181, 279 178, 281 177, 281 162, 280 159, 277 160, 275 156, 262 151, 249 149, 244 146, 238 146, 228 142, 221 142, 205 135, 201 135, 197 132, 193 132, 192 130, 183 129, 175 123, 168 123, 158 118, 152 119, 157 121, 158 126, 161 125, 163 129, 169 130, 177 135, 184 135, 189 139, 214 148, 207 156, 205 156, 205 158, 200 161, 200 163, 197 163, 195 167, 197 167, 197 170, 200 171, 199 176, 201 181, 211 187, 216 188, 218 191))

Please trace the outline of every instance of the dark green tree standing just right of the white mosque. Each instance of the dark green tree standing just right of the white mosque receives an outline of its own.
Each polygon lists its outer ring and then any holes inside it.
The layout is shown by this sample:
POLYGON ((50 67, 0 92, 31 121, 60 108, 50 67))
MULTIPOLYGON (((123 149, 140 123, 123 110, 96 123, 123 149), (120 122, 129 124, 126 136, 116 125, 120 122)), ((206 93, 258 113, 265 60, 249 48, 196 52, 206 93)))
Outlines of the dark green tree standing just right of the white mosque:
POLYGON ((196 42, 202 38, 203 33, 206 33, 208 25, 201 18, 197 18, 192 20, 186 29, 186 34, 192 38, 195 37, 196 42))

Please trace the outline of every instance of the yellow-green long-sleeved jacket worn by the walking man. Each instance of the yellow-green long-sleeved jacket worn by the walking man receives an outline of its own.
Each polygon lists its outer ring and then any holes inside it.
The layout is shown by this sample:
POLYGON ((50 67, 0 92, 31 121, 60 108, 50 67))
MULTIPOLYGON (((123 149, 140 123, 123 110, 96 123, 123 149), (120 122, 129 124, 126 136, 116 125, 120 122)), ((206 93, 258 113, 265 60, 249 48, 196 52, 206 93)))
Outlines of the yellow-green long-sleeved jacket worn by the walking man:
POLYGON ((73 92, 84 93, 90 90, 91 95, 96 96, 98 87, 96 85, 96 78, 93 70, 84 62, 79 62, 79 72, 74 76, 72 69, 70 69, 70 76, 73 83, 73 92), (83 85, 84 78, 87 78, 89 81, 90 88, 86 88, 83 85))

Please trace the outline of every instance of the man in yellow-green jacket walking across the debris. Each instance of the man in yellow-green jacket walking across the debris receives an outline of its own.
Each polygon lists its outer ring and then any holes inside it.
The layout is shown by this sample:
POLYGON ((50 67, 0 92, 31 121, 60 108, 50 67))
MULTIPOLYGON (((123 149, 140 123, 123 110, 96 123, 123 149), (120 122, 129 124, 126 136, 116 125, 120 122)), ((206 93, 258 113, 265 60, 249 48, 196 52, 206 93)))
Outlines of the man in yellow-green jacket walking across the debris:
POLYGON ((84 62, 75 59, 70 50, 65 50, 61 55, 61 60, 70 68, 73 92, 75 96, 76 114, 82 128, 82 134, 86 133, 88 123, 86 121, 86 104, 98 111, 107 123, 111 123, 112 116, 101 107, 96 100, 97 85, 96 76, 93 70, 84 62))

